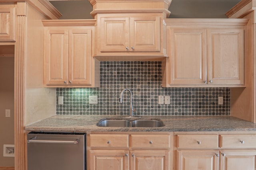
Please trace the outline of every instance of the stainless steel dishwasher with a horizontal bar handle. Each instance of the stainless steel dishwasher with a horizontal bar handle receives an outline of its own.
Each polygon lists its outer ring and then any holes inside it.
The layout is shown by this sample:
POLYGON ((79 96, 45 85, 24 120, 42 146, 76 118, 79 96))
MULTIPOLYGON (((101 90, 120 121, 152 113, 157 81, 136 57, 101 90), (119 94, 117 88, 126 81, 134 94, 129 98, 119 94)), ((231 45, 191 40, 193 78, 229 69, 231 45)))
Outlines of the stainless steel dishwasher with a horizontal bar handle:
POLYGON ((28 170, 85 170, 86 133, 30 132, 28 170))

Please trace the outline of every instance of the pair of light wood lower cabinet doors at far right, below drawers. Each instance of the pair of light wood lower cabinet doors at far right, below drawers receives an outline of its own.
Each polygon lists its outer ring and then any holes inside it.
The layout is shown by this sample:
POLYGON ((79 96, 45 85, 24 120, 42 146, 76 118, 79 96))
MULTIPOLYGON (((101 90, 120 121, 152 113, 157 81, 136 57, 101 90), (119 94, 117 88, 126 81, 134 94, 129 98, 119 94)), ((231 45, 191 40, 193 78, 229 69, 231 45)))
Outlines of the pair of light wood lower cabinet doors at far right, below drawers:
POLYGON ((255 170, 256 150, 178 150, 178 170, 255 170))

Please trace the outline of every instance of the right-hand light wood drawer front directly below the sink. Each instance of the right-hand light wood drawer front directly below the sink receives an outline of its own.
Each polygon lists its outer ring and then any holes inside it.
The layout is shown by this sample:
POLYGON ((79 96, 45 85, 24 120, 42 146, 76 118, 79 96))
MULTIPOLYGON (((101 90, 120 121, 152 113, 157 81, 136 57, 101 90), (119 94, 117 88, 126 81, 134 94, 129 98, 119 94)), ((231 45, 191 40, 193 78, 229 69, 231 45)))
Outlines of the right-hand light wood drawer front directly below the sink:
POLYGON ((170 135, 131 135, 132 148, 170 147, 170 135))

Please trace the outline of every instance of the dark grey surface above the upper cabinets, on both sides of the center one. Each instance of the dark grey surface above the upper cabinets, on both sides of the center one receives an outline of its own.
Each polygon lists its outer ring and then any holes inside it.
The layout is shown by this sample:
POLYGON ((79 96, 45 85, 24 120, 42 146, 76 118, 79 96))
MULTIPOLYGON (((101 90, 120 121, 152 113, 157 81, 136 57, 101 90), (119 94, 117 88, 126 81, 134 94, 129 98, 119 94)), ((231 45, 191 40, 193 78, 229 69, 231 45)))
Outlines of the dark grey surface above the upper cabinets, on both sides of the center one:
MULTIPOLYGON (((50 0, 60 19, 93 19, 89 0, 50 0)), ((240 0, 172 0, 169 18, 227 18, 225 13, 240 0)))

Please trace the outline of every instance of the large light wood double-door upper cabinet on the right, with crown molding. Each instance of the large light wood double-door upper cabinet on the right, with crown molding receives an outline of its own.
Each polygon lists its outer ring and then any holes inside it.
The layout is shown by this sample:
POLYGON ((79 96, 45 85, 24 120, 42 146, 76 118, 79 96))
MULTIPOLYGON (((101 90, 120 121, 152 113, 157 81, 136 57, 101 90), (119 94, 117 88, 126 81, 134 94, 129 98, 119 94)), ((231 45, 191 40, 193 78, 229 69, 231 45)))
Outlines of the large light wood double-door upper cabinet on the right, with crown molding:
POLYGON ((247 20, 167 19, 163 87, 244 86, 247 20))

